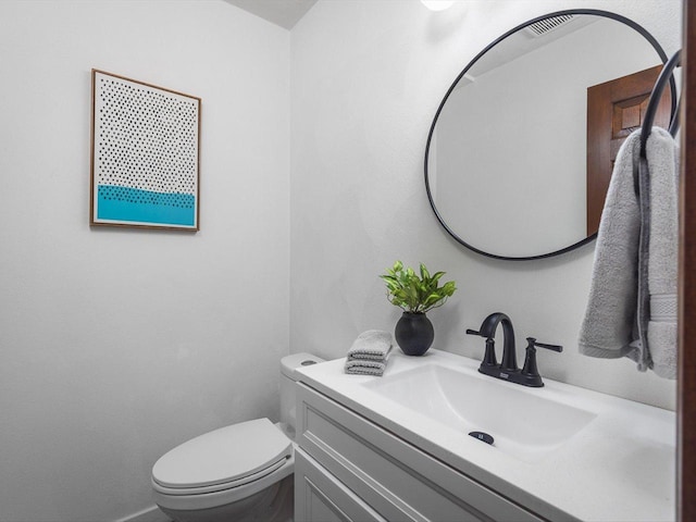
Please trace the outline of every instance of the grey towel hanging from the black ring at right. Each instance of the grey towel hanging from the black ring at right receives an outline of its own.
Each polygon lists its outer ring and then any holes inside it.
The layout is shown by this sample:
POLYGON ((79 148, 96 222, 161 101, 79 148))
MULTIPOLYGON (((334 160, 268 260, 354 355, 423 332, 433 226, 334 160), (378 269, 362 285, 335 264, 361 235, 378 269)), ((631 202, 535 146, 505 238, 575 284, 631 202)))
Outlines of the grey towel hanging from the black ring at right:
POLYGON ((675 378, 679 153, 662 128, 648 137, 647 160, 639 140, 639 130, 631 134, 614 163, 579 345, 675 378))

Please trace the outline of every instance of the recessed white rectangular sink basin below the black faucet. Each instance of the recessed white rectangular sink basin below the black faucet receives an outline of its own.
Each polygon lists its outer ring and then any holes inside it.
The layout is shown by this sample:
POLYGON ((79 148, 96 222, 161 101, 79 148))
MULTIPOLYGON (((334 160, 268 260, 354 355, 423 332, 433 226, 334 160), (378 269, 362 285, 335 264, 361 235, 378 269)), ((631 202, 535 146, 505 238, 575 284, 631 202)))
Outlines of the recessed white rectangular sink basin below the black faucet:
POLYGON ((527 462, 554 450, 597 417, 542 397, 543 388, 435 364, 363 386, 464 435, 484 432, 494 437, 494 447, 527 462))

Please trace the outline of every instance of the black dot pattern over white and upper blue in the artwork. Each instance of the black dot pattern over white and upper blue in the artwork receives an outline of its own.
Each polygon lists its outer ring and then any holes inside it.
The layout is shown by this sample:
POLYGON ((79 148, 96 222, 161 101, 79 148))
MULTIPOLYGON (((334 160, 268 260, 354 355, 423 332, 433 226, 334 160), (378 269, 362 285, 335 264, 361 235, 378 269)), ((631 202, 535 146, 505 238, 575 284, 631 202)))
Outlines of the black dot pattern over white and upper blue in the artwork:
POLYGON ((97 75, 96 89, 100 195, 135 203, 194 206, 198 100, 102 74, 97 75))

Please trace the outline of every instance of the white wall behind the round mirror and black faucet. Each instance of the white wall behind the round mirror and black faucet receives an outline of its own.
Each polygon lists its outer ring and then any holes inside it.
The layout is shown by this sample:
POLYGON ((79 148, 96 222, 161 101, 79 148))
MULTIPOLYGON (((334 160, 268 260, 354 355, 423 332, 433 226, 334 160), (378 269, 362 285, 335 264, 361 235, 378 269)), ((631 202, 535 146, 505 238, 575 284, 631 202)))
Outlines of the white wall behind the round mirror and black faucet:
POLYGON ((360 332, 391 330, 400 310, 377 275, 396 259, 423 261, 459 286, 430 314, 435 348, 480 359, 483 340, 464 331, 504 311, 520 359, 526 336, 566 347, 538 355, 544 375, 674 408, 673 382, 577 353, 594 244, 539 261, 483 258, 449 238, 425 195, 427 130, 459 72, 510 28, 579 3, 635 20, 668 54, 680 46, 680 0, 482 0, 439 13, 418 1, 320 1, 293 29, 291 351, 340 357, 360 332))

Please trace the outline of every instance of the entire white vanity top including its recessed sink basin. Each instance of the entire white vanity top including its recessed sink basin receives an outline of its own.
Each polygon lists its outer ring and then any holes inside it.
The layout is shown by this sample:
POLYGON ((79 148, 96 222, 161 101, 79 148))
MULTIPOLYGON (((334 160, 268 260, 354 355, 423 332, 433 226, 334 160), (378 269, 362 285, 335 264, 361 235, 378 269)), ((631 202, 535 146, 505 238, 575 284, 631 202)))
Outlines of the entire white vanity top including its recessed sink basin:
POLYGON ((674 520, 674 412, 550 378, 527 388, 478 373, 480 363, 397 350, 382 377, 348 375, 345 359, 298 373, 300 385, 547 520, 674 520))

